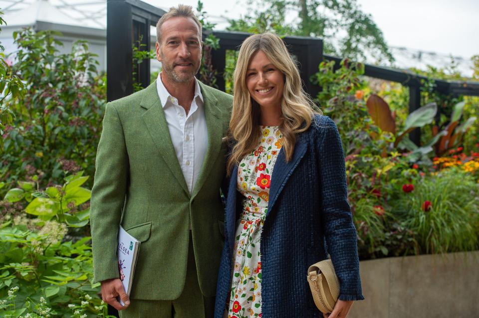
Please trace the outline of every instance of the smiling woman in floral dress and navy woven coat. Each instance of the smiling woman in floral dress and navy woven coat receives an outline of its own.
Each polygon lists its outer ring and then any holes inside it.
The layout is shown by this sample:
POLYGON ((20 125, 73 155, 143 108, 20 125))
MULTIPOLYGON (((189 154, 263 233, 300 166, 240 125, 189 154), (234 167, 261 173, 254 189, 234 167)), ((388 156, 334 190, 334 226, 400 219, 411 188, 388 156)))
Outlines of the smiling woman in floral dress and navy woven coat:
POLYGON ((328 253, 340 294, 326 318, 346 317, 363 296, 336 125, 314 111, 276 35, 243 42, 234 81, 215 318, 322 317, 306 272, 328 253))

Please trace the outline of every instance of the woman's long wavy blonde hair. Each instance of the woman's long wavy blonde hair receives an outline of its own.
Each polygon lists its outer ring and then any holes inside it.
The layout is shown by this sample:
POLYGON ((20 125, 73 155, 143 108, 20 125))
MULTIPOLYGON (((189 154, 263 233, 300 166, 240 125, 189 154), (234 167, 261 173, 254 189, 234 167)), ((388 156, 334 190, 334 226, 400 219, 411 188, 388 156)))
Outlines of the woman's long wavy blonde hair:
POLYGON ((299 71, 283 41, 272 33, 251 35, 241 44, 238 62, 233 75, 234 100, 230 122, 231 138, 237 141, 230 159, 228 174, 235 164, 255 149, 260 139, 260 108, 249 94, 246 86, 246 71, 251 57, 257 51, 263 51, 271 63, 284 74, 284 89, 281 98, 281 123, 283 152, 286 161, 293 156, 296 134, 311 125, 316 106, 301 86, 299 71))

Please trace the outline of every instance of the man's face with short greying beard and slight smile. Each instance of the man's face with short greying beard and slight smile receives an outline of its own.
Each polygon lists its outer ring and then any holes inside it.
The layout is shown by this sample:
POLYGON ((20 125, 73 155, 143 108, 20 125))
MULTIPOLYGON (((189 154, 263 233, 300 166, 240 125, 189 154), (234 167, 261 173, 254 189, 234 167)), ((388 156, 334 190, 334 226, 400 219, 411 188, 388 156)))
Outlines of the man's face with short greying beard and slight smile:
POLYGON ((176 83, 188 83, 198 73, 202 42, 198 25, 183 16, 166 20, 161 26, 161 43, 156 42, 156 57, 163 75, 176 83))

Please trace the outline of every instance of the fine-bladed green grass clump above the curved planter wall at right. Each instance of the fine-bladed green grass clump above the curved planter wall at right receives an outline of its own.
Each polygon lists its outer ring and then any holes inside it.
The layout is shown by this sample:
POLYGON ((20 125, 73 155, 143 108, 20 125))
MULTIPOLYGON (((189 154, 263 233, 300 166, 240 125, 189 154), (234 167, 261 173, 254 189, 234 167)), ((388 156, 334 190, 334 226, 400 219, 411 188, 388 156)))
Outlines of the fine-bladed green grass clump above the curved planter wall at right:
POLYGON ((404 226, 417 233, 418 253, 471 251, 479 247, 478 194, 478 184, 470 174, 447 169, 424 178, 414 191, 391 205, 404 226), (430 210, 426 201, 432 204, 430 210))

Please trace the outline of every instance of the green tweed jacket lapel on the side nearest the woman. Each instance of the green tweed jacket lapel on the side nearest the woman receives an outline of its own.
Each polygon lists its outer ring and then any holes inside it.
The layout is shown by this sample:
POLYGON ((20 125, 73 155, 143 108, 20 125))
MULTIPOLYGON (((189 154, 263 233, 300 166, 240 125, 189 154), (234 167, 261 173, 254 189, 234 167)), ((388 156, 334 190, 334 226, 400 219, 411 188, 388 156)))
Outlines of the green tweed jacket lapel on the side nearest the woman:
POLYGON ((205 159, 203 161, 203 166, 200 171, 200 175, 198 176, 195 188, 193 189, 192 198, 194 198, 198 194, 205 181, 208 179, 213 163, 220 151, 221 139, 223 137, 222 116, 220 110, 217 107, 218 99, 207 89, 205 89, 204 84, 202 84, 201 82, 200 88, 205 106, 205 119, 206 127, 208 130, 208 148, 206 151, 205 159))

